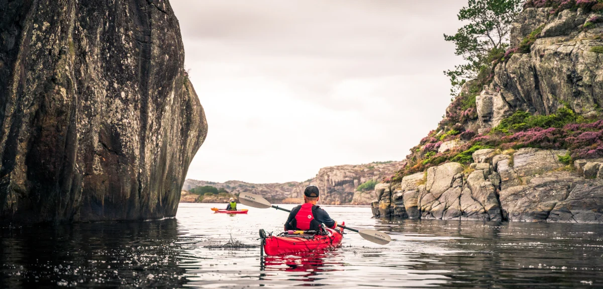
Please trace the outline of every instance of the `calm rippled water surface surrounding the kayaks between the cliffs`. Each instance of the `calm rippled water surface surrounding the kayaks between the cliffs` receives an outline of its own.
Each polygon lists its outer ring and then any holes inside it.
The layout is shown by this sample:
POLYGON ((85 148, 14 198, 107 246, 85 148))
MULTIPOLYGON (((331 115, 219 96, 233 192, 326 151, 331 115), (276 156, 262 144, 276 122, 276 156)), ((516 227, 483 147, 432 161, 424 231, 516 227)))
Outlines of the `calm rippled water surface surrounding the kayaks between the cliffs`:
POLYGON ((211 247, 231 238, 257 245, 257 231, 278 232, 286 213, 213 214, 212 206, 182 203, 177 218, 160 221, 3 227, 0 288, 603 287, 600 225, 385 221, 367 207, 324 206, 393 241, 379 246, 350 232, 338 250, 260 262, 259 247, 211 247))

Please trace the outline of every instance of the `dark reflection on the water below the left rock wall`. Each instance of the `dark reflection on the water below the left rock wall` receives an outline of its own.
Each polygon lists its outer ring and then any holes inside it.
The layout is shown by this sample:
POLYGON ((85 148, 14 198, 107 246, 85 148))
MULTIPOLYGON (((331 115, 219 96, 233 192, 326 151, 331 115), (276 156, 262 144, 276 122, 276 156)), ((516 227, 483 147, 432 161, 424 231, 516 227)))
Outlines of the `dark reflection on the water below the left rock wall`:
POLYGON ((183 284, 177 221, 3 227, 0 288, 183 284))

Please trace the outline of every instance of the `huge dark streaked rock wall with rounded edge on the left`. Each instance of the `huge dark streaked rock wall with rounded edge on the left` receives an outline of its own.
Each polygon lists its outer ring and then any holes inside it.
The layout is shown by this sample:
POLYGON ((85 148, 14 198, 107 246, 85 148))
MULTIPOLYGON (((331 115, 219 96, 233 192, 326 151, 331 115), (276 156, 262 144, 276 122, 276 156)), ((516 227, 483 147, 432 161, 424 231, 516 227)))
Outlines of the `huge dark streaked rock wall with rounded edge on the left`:
POLYGON ((167 0, 0 11, 0 220, 173 217, 207 133, 167 0))

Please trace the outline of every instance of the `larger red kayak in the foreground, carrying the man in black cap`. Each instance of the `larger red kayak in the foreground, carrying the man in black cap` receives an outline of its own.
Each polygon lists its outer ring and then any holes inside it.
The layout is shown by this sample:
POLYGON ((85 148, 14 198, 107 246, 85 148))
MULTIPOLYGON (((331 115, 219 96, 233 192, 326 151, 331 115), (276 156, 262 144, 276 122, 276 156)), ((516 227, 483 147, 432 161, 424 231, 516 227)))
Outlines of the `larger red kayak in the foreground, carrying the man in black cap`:
POLYGON ((264 230, 260 230, 260 238, 262 238, 264 252, 269 256, 339 247, 343 239, 343 229, 326 229, 326 231, 326 235, 282 233, 279 236, 266 236, 264 230))

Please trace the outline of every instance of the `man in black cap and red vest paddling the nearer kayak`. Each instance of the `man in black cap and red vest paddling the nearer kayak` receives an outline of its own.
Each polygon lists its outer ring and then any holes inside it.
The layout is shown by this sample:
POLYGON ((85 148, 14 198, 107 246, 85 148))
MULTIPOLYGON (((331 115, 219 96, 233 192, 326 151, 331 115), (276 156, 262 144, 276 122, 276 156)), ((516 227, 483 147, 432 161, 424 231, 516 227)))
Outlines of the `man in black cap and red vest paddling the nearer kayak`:
POLYGON ((291 210, 285 223, 285 230, 319 230, 320 224, 325 224, 331 229, 337 227, 329 214, 316 205, 318 202, 318 187, 307 186, 303 192, 304 204, 291 210))

